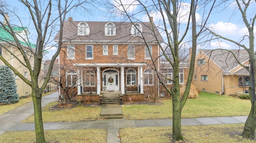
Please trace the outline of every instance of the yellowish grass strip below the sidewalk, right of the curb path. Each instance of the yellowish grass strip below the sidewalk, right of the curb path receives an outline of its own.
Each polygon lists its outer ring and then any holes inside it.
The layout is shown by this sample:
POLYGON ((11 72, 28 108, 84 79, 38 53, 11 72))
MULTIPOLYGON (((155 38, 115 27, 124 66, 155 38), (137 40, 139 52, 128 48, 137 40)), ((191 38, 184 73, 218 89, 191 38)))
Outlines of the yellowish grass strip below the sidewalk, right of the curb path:
MULTIPOLYGON (((185 143, 256 143, 240 134, 244 124, 182 126, 185 143)), ((119 129, 122 143, 170 143, 172 127, 119 129)), ((176 142, 178 143, 178 141, 176 142)))

